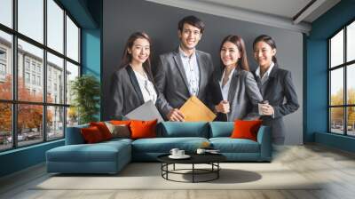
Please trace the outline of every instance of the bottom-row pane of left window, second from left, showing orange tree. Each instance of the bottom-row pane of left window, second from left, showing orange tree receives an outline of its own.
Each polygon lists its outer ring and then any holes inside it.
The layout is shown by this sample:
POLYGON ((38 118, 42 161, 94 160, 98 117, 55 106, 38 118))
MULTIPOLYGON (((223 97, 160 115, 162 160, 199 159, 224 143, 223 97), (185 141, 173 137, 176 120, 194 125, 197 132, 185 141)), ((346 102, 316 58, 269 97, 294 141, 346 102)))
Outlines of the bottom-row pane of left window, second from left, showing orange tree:
POLYGON ((43 141, 43 106, 20 104, 18 106, 18 146, 43 141))

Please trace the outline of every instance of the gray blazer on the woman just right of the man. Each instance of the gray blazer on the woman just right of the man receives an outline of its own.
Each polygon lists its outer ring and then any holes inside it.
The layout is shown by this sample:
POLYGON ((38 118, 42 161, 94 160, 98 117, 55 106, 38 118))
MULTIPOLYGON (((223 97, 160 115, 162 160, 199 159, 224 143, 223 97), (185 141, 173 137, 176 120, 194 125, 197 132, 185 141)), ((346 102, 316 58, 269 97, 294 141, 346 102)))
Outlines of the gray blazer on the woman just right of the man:
MULTIPOLYGON (((223 71, 218 71, 213 78, 211 86, 214 105, 223 100, 219 81, 221 81, 223 71)), ((248 114, 257 111, 257 103, 263 100, 254 76, 241 68, 235 68, 228 92, 230 112, 228 114, 217 115, 219 121, 234 121, 237 119, 248 119, 248 114)), ((256 114, 254 114, 256 115, 256 114)))

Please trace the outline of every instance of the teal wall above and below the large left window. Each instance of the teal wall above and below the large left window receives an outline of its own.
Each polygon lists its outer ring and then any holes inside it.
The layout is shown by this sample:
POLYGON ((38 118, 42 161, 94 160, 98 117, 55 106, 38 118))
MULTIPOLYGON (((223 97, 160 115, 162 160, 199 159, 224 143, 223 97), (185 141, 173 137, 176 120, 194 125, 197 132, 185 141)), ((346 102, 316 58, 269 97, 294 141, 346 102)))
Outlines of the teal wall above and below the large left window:
MULTIPOLYGON (((83 74, 101 79, 102 0, 59 0, 82 28, 83 74)), ((45 152, 64 145, 64 139, 0 152, 0 177, 45 161, 45 152)))

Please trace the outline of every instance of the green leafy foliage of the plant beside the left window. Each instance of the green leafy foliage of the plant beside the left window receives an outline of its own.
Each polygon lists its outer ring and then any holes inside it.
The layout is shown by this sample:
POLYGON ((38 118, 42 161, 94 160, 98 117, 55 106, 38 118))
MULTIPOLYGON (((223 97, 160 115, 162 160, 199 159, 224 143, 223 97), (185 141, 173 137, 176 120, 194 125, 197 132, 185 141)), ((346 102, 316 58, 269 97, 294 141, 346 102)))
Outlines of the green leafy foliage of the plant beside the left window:
POLYGON ((76 77, 70 84, 79 123, 98 121, 95 115, 99 113, 99 81, 94 76, 84 75, 76 77))

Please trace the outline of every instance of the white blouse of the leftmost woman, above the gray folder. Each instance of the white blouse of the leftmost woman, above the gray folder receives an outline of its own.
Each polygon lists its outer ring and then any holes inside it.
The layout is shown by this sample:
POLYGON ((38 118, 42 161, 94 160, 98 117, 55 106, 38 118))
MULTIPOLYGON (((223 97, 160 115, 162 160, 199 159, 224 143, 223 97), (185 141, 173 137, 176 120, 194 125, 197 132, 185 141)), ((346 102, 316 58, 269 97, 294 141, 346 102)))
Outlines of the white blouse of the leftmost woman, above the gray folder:
POLYGON ((146 76, 146 73, 145 76, 142 76, 140 73, 136 72, 135 70, 133 71, 137 77, 140 92, 142 92, 143 95, 143 100, 145 102, 152 100, 153 103, 155 104, 157 94, 154 89, 154 84, 151 81, 149 81, 148 76, 146 76))

